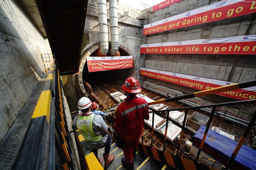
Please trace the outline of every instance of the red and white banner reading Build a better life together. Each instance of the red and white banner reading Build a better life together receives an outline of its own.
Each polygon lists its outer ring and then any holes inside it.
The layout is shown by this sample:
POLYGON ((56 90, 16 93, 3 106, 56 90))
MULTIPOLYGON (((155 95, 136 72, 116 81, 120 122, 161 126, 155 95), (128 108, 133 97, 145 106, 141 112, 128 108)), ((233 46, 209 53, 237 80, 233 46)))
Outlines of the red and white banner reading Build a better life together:
POLYGON ((141 54, 256 54, 256 35, 140 45, 141 54))

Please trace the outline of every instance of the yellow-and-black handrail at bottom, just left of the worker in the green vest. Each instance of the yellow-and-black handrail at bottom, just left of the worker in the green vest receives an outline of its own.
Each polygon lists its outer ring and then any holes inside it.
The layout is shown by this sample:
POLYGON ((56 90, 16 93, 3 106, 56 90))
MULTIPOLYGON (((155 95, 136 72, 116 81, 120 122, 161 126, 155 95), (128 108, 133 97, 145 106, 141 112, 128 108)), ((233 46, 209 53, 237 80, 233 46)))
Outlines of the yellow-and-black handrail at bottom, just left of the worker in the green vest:
POLYGON ((99 161, 95 157, 94 153, 86 143, 82 133, 79 129, 75 129, 75 141, 78 148, 78 154, 80 157, 81 169, 88 170, 103 170, 99 161))

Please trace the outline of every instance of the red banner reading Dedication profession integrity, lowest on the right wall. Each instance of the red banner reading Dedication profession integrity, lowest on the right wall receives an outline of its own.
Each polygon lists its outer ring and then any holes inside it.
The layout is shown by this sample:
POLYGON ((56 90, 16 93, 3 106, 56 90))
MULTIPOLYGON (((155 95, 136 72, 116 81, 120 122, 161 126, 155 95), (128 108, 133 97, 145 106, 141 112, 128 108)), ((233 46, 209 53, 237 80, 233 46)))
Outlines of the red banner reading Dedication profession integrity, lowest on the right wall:
MULTIPOLYGON (((139 74, 142 76, 147 76, 162 81, 179 84, 181 86, 198 89, 201 91, 226 86, 229 84, 234 84, 233 82, 227 82, 204 77, 195 77, 191 75, 172 73, 149 68, 140 68, 139 74)), ((256 98, 256 86, 217 94, 230 98, 235 98, 238 100, 252 100, 256 98)))

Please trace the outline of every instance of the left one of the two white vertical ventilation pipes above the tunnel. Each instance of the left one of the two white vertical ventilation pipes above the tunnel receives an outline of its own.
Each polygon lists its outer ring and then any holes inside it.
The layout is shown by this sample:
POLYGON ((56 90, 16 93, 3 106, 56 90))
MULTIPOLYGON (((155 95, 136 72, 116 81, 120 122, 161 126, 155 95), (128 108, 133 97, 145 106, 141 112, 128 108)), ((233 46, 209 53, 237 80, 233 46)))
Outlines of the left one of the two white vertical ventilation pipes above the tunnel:
POLYGON ((98 0, 98 18, 99 18, 99 41, 100 52, 103 56, 108 53, 108 18, 107 1, 98 0))

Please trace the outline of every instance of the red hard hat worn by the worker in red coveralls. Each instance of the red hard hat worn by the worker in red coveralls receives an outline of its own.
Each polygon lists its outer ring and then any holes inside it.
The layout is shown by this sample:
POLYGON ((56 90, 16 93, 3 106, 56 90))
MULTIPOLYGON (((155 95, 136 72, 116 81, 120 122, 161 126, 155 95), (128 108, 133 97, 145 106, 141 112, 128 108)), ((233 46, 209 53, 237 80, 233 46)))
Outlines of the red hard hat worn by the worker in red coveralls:
POLYGON ((122 89, 128 93, 141 92, 141 88, 139 87, 139 81, 134 77, 128 77, 122 85, 122 89))

